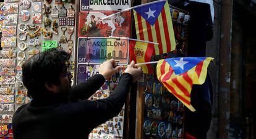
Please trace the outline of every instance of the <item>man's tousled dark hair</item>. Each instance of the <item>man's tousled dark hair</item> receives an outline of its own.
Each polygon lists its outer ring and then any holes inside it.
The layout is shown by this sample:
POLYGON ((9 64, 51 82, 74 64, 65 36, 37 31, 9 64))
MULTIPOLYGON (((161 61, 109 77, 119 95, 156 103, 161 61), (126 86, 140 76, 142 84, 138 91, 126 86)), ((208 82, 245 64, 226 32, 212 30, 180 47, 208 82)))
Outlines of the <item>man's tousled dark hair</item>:
POLYGON ((33 55, 22 65, 22 81, 28 97, 40 97, 46 91, 45 83, 59 85, 59 75, 69 66, 70 55, 64 50, 50 49, 33 55))

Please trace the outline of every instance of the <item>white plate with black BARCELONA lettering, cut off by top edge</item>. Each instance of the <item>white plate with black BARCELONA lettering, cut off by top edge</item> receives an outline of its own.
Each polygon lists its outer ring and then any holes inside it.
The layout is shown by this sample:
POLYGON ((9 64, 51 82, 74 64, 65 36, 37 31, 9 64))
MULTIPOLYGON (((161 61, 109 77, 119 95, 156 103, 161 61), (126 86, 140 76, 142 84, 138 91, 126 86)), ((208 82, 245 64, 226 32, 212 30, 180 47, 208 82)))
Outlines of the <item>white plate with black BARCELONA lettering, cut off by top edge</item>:
POLYGON ((88 0, 81 0, 80 1, 80 9, 81 10, 124 10, 130 7, 130 0, 118 0, 118 1, 107 1, 107 0, 95 0, 95 1, 88 1, 88 0))

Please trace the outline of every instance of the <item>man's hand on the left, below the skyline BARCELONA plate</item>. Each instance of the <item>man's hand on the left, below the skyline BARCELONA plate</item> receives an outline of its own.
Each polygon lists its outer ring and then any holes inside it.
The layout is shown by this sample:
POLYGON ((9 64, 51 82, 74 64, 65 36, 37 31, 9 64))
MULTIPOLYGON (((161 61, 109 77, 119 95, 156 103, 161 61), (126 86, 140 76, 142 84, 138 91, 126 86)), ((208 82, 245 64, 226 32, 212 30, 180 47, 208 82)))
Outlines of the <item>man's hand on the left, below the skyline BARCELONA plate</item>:
POLYGON ((112 77, 115 73, 119 72, 119 70, 122 68, 122 66, 116 66, 116 62, 114 59, 111 59, 107 62, 103 62, 100 65, 99 73, 105 77, 105 79, 108 79, 109 77, 112 77))

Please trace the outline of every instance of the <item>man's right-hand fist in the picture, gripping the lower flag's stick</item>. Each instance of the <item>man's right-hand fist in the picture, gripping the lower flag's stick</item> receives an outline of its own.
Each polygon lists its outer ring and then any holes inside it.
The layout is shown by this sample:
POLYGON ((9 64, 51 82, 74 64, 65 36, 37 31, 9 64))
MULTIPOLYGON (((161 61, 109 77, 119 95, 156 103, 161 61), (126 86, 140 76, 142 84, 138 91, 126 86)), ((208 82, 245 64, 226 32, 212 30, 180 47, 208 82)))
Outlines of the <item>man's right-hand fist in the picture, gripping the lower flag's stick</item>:
POLYGON ((125 73, 129 73, 134 77, 134 82, 140 79, 142 74, 142 67, 135 65, 134 61, 130 62, 130 65, 127 66, 125 73))

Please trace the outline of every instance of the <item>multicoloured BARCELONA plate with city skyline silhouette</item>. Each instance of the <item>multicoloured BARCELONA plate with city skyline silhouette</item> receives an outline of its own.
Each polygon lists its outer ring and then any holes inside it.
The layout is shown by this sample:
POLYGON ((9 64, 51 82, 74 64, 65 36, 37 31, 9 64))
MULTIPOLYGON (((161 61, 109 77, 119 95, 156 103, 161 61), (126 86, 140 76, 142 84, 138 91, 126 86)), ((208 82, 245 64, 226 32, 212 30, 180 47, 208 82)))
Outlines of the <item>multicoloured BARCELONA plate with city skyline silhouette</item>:
POLYGON ((119 64, 128 62, 128 41, 126 39, 79 38, 78 63, 103 63, 114 58, 119 64))

